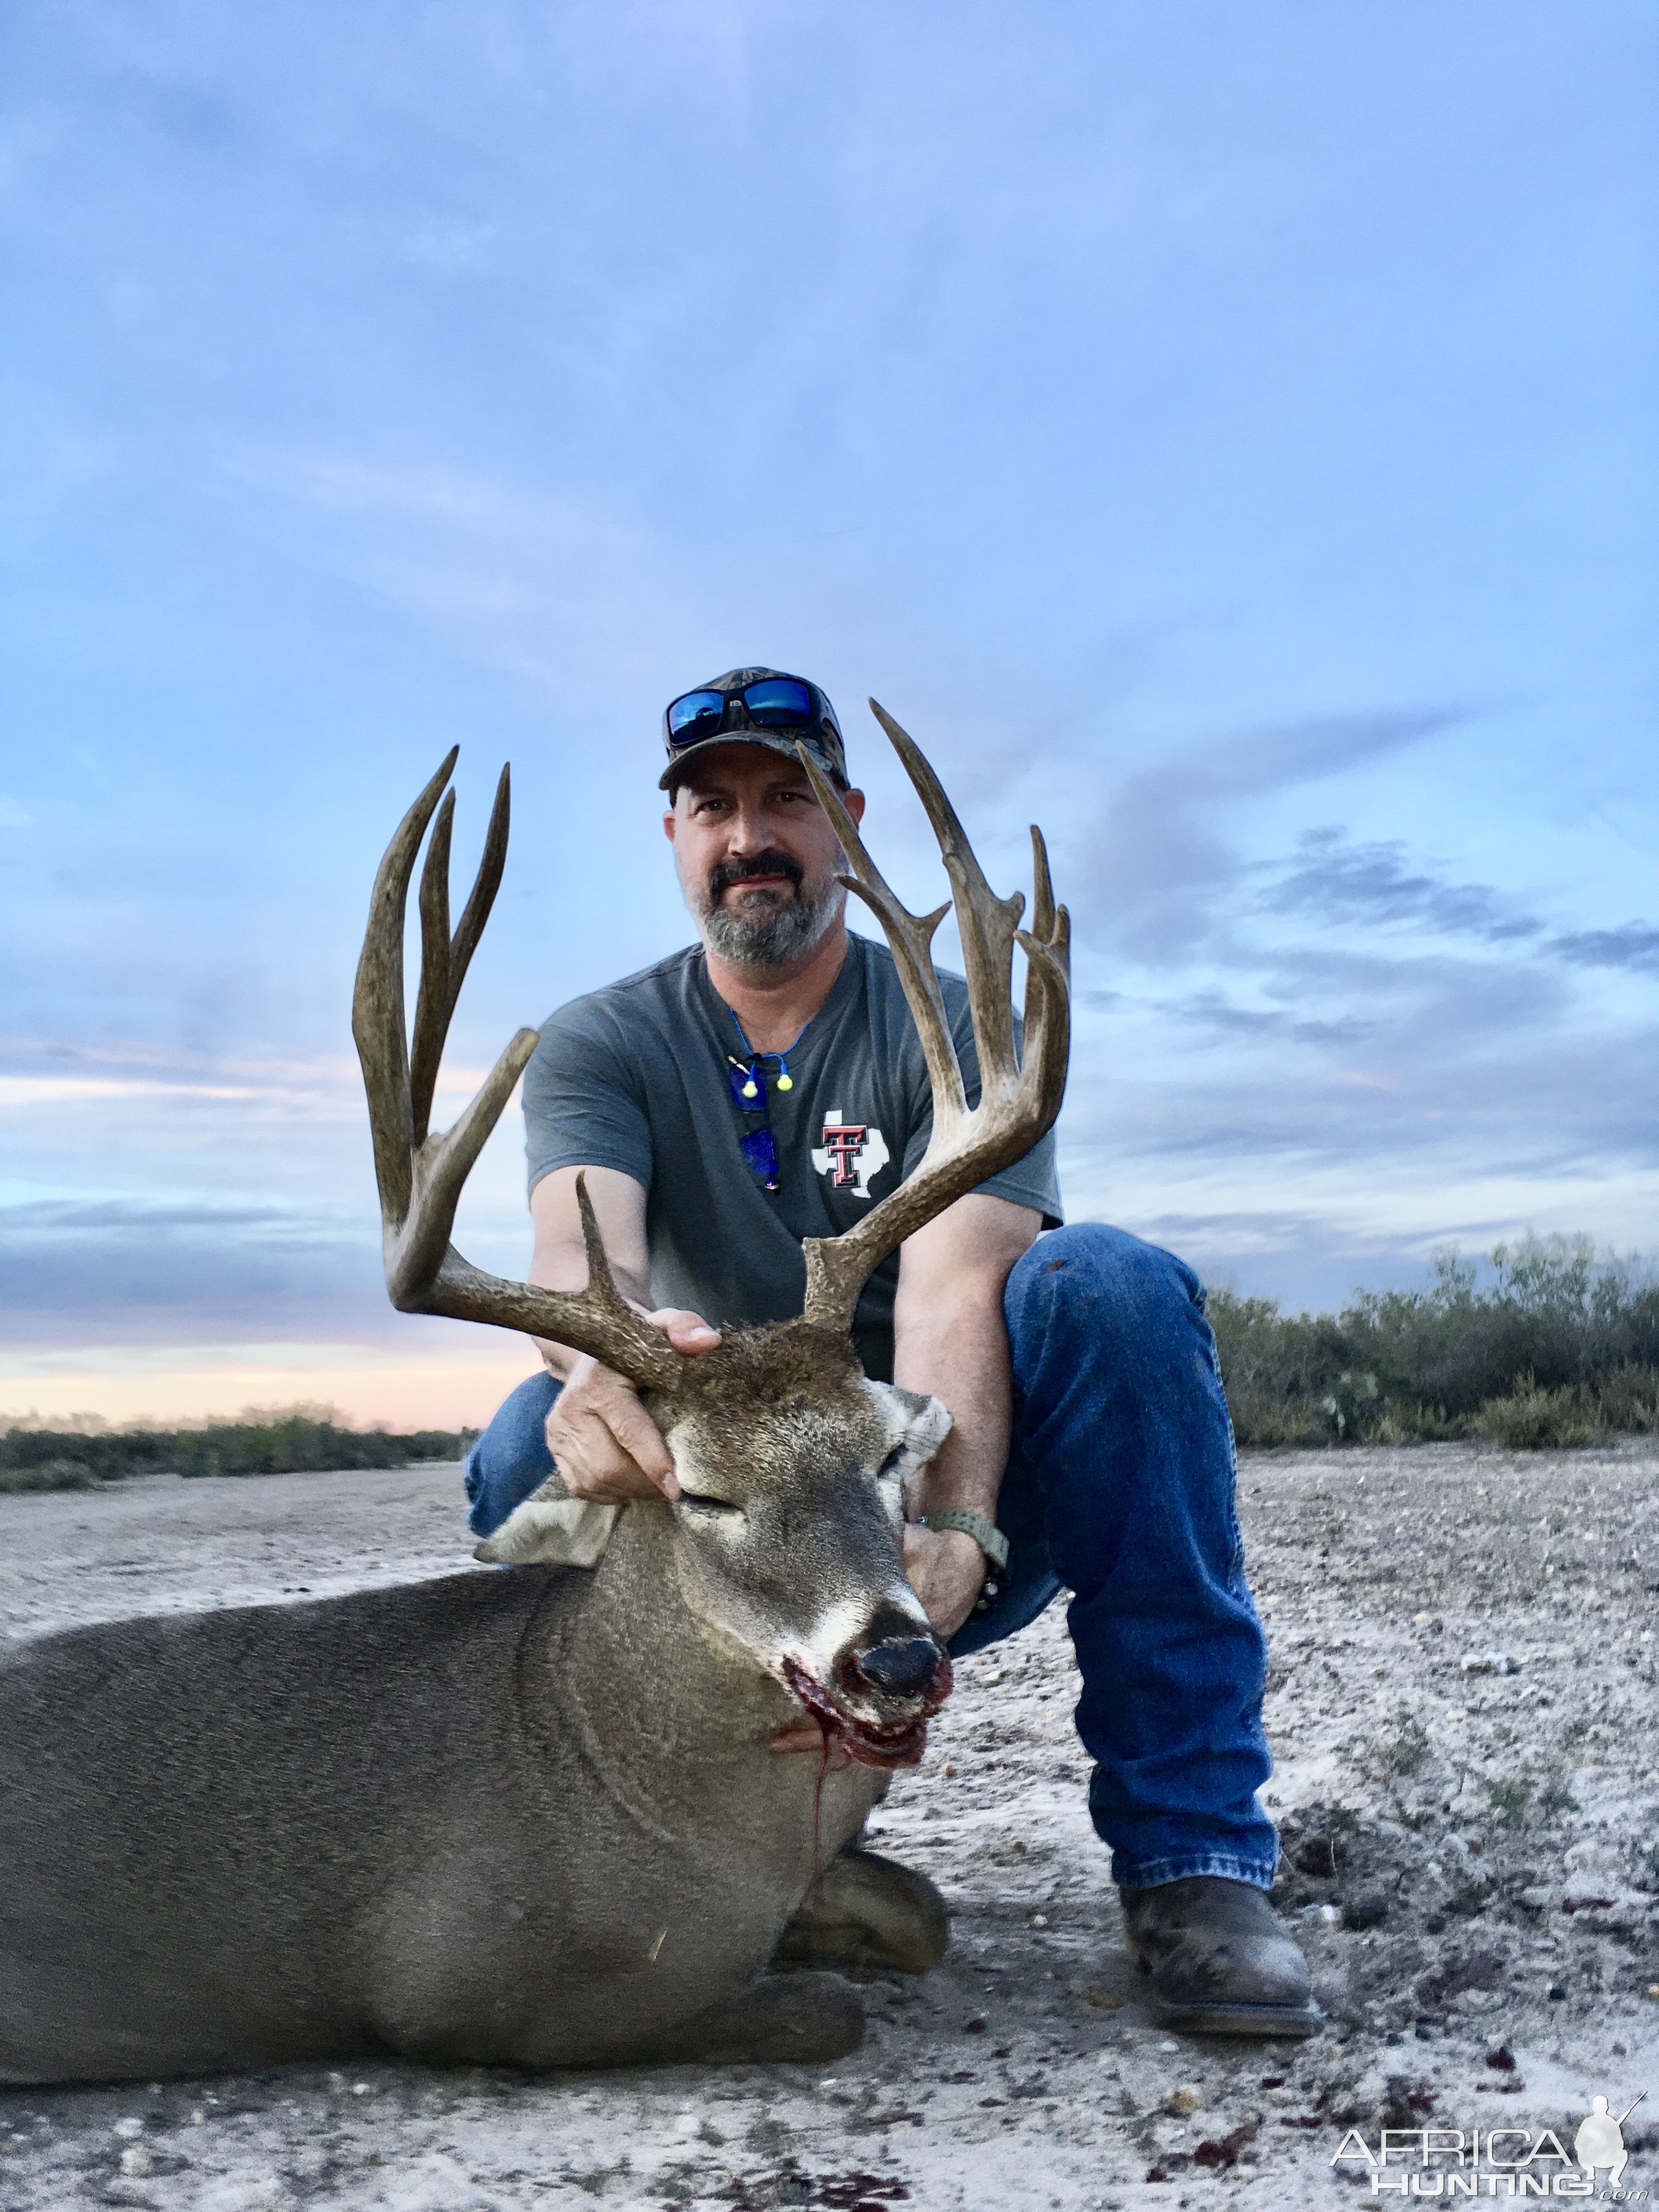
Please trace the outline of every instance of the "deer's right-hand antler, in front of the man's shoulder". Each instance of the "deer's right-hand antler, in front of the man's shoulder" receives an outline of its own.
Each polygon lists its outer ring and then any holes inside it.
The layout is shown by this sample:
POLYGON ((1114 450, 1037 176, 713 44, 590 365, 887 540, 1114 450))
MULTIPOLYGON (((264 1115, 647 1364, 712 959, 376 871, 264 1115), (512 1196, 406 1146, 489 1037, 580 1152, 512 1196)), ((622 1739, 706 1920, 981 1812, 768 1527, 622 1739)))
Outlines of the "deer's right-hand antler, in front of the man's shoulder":
POLYGON ((1011 898, 995 896, 920 748, 874 699, 869 706, 927 807, 945 872, 951 878, 956 922, 962 931, 973 1042, 980 1057, 980 1104, 973 1108, 967 1104, 951 1024, 945 1013, 945 993, 933 969, 933 931, 949 907, 936 907, 933 914, 920 916, 900 907, 865 852, 852 814, 841 803, 841 792, 807 748, 796 745, 801 765, 812 776, 818 803, 836 825, 836 836, 847 854, 852 874, 838 880, 874 907, 887 931, 898 962, 898 980, 922 1040, 927 1077, 933 1086, 933 1135, 916 1172, 880 1206, 874 1206, 856 1228, 841 1237, 810 1237, 805 1241, 807 1303, 803 1318, 836 1332, 852 1327, 858 1292, 905 1237, 911 1237, 933 1214, 942 1214, 975 1183, 1013 1166, 1053 1128, 1066 1091, 1071 1046, 1071 918, 1064 907, 1055 907, 1042 832, 1031 830, 1035 905, 1031 929, 1020 929, 1024 896, 1020 891, 1011 898), (1015 945, 1026 956, 1022 1053, 1015 1053, 1013 1044, 1015 945))

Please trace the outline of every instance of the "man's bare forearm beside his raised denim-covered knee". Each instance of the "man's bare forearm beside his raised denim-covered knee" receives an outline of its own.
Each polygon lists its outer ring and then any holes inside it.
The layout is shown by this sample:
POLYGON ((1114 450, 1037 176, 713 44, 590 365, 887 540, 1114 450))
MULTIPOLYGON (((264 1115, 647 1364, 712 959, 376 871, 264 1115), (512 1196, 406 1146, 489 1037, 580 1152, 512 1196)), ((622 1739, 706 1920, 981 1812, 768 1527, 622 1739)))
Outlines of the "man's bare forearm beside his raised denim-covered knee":
POLYGON ((900 1307, 894 1316, 894 1383, 931 1391, 951 1411, 951 1433, 916 1480, 916 1517, 962 1506, 995 1520, 1013 1422, 1002 1285, 973 1283, 922 1314, 900 1307))

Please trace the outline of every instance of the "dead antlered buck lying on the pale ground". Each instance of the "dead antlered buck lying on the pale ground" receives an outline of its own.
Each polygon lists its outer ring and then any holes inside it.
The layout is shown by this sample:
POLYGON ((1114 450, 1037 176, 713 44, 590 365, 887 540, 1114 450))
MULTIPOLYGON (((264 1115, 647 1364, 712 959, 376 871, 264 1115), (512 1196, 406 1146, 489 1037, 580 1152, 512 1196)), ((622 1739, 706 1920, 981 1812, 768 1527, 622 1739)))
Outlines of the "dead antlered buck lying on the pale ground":
MULTIPOLYGON (((902 1237, 1051 1126, 1068 1035, 1066 916, 1042 841, 1033 832, 1024 931, 1024 902, 991 894, 920 752, 883 723, 951 876, 980 1099, 967 1106, 929 951, 949 909, 898 905, 814 772, 849 858, 843 883, 876 909, 900 964, 933 1135, 858 1228, 807 1243, 799 1321, 730 1329, 699 1358, 619 1298, 586 1192, 580 1296, 482 1274, 449 1243, 467 1170, 535 1048, 522 1029, 456 1126, 429 1130, 502 874, 507 774, 453 938, 453 796, 438 807, 453 752, 405 816, 354 1002, 392 1301, 604 1360, 644 1391, 684 1498, 624 1506, 591 1571, 469 1571, 13 1650, 0 1688, 0 2077, 372 2051, 515 2066, 823 2059, 858 2039, 845 1984, 765 1966, 883 1770, 920 1756, 951 1677, 900 1559, 900 1482, 947 1416, 863 1376, 854 1303, 902 1237), (434 810, 409 1048, 405 905, 434 810), (803 1708, 852 1765, 768 1750, 803 1708)), ((482 1555, 568 1559, 575 1537, 555 1480, 482 1555)))

